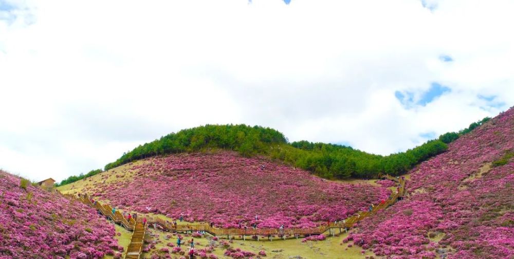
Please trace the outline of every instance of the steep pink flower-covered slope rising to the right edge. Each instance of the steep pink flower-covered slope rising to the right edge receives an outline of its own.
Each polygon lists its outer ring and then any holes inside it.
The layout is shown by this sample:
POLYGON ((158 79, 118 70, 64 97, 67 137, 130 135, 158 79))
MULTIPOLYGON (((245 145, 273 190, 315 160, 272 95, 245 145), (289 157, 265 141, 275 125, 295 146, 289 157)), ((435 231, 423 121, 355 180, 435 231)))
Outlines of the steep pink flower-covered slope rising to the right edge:
POLYGON ((393 258, 514 258, 513 152, 511 108, 420 164, 410 197, 345 242, 393 258))

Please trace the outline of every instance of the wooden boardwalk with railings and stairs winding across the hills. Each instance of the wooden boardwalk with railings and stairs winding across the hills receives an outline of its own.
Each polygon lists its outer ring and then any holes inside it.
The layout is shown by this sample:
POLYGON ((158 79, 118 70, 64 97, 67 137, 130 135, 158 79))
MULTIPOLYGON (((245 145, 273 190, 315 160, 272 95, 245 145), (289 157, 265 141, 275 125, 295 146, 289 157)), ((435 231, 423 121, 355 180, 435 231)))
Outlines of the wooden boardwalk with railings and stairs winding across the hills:
MULTIPOLYGON (((269 240, 271 241, 271 237, 273 235, 279 235, 282 236, 283 239, 285 239, 286 235, 293 236, 298 238, 300 235, 320 235, 325 233, 327 230, 331 232, 332 235, 334 235, 335 231, 332 231, 332 229, 339 229, 339 232, 341 232, 341 229, 347 230, 349 228, 354 227, 355 224, 357 224, 360 220, 369 217, 373 214, 375 214, 377 211, 385 209, 391 205, 393 205, 399 198, 403 197, 403 194, 405 192, 405 179, 403 178, 396 178, 389 175, 384 176, 383 178, 395 181, 400 184, 400 187, 398 188, 398 192, 393 193, 389 199, 386 200, 386 202, 380 203, 379 205, 373 207, 373 209, 370 211, 363 211, 360 213, 357 213, 354 216, 348 217, 343 221, 338 221, 334 223, 328 223, 326 225, 322 225, 318 228, 284 228, 284 229, 277 229, 277 228, 249 228, 249 229, 242 229, 242 228, 214 228, 211 227, 209 224, 186 224, 186 225, 173 225, 167 220, 160 219, 158 217, 148 217, 146 221, 146 225, 143 225, 141 217, 137 217, 137 220, 134 218, 130 218, 127 220, 123 214, 119 210, 115 210, 115 213, 113 213, 113 209, 109 205, 102 205, 99 201, 96 201, 95 203, 91 202, 91 199, 87 194, 79 194, 79 196, 75 196, 73 194, 63 194, 65 197, 73 200, 78 200, 82 202, 85 205, 88 205, 91 208, 95 208, 99 213, 103 214, 105 217, 113 220, 115 223, 120 224, 122 227, 124 227, 126 230, 133 231, 132 237, 131 237, 131 243, 128 245, 127 250, 125 251, 125 257, 124 258, 140 258, 142 246, 143 246, 143 238, 144 234, 146 232, 146 227, 149 224, 153 224, 154 226, 159 225, 164 230, 170 231, 170 232, 194 232, 194 231, 205 231, 211 235, 226 235, 230 238, 232 235, 237 236, 243 236, 243 239, 246 238, 246 236, 256 236, 259 240, 259 236, 267 236, 269 240)), ((57 191, 57 190, 56 190, 57 191)), ((59 192, 59 191, 57 191, 59 192)), ((59 192, 60 193, 60 192, 59 192)))

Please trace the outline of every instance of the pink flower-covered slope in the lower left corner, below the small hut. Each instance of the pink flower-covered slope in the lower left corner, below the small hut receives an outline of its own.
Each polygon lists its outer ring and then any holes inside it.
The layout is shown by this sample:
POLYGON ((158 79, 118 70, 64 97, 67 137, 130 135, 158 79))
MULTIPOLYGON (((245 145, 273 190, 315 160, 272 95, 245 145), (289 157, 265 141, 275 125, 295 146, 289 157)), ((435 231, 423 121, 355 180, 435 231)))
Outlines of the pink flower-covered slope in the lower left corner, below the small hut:
POLYGON ((120 249, 95 210, 27 182, 0 171, 0 258, 102 258, 120 249))

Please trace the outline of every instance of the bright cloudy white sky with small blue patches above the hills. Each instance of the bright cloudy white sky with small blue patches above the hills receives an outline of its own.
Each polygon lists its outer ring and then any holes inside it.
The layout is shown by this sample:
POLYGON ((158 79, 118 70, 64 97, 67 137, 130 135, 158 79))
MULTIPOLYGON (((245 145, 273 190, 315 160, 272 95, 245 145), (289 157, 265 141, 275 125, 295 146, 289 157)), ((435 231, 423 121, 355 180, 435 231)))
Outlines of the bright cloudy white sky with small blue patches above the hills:
POLYGON ((405 151, 514 105, 514 2, 0 0, 0 168, 103 168, 204 124, 405 151))

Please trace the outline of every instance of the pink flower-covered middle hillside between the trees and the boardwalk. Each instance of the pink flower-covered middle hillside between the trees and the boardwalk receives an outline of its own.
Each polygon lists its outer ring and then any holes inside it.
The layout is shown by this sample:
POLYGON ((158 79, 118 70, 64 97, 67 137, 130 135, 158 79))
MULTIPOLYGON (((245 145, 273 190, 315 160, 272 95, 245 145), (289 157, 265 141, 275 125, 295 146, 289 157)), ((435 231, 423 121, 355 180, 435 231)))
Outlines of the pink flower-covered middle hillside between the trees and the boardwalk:
POLYGON ((188 221, 218 227, 249 226, 255 215, 259 227, 314 227, 319 221, 344 219, 391 193, 370 184, 326 181, 266 158, 227 151, 151 158, 89 181, 83 191, 112 206, 174 218, 183 214, 188 221), (109 174, 117 180, 104 182, 109 174))

